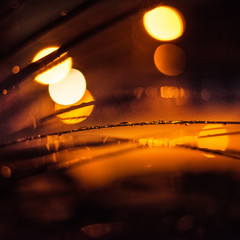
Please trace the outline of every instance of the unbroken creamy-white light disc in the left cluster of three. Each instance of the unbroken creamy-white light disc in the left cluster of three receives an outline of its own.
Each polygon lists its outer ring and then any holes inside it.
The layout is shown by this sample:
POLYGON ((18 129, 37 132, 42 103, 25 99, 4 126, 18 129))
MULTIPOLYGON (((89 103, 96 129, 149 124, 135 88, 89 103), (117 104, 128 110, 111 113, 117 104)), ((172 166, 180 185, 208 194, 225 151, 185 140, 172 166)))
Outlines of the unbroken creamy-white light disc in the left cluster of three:
POLYGON ((48 91, 54 102, 71 105, 78 102, 84 95, 86 80, 80 71, 71 69, 62 81, 50 84, 48 91))

